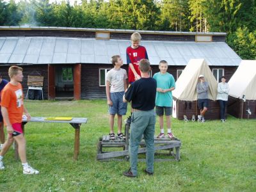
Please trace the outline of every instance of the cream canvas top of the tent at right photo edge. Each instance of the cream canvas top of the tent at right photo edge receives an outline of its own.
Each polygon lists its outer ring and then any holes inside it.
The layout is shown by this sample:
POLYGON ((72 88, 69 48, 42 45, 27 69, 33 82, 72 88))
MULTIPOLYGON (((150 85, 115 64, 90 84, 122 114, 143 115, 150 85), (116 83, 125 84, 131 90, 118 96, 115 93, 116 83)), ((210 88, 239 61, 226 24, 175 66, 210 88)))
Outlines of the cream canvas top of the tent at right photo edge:
POLYGON ((256 100, 256 60, 242 60, 228 81, 229 94, 235 98, 256 100))

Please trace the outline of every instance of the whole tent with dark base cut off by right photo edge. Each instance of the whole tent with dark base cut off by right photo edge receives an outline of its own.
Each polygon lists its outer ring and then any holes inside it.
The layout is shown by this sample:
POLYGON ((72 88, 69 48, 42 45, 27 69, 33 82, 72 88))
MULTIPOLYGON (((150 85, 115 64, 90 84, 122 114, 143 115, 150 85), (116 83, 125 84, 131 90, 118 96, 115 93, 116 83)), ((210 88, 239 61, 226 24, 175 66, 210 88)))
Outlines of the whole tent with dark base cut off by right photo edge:
POLYGON ((242 60, 228 84, 228 113, 256 118, 256 60, 242 60))

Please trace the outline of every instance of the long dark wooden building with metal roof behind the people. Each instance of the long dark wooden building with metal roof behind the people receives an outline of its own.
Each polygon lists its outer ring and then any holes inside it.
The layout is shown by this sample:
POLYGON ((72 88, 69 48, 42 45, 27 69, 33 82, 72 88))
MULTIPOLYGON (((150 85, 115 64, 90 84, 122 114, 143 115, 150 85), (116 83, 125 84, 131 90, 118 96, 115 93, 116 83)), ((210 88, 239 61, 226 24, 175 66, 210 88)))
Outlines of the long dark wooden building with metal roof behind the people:
MULTIPOLYGON (((126 64, 126 47, 134 31, 121 29, 0 27, 0 70, 24 68, 24 92, 31 72, 44 76, 44 99, 106 98, 105 77, 114 54, 126 64)), ((147 48, 152 75, 168 61, 175 79, 191 59, 204 58, 216 79, 234 74, 241 58, 225 43, 226 33, 138 31, 147 48)), ((127 65, 124 65, 127 69, 127 65)))

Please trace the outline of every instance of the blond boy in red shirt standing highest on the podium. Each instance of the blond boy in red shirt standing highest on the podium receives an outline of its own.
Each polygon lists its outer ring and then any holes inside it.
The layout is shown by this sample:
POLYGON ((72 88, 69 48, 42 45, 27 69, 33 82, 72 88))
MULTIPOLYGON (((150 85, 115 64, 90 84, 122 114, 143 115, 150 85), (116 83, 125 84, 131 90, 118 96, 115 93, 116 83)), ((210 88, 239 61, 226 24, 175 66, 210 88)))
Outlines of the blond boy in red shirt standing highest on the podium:
MULTIPOLYGON (((128 82, 131 85, 134 81, 141 78, 139 62, 142 59, 148 60, 148 54, 145 47, 140 45, 141 35, 138 32, 132 33, 132 45, 126 49, 127 64, 129 64, 128 82)), ((131 108, 131 113, 134 109, 131 108)), ((131 116, 127 119, 127 123, 131 124, 131 116)))

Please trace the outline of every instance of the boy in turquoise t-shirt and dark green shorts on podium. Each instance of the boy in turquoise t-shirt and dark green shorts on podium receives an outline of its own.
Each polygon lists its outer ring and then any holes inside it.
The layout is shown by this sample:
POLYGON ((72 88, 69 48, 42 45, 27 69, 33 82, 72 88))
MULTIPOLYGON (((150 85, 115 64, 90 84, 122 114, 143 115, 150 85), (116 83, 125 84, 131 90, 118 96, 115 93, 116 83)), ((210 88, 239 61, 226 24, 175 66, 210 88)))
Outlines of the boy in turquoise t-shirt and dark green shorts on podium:
POLYGON ((167 61, 160 61, 160 72, 154 74, 156 79, 156 115, 159 116, 160 134, 157 138, 164 138, 164 117, 166 116, 167 136, 168 138, 175 138, 171 129, 171 115, 172 115, 172 91, 175 89, 175 79, 167 72, 167 61))

